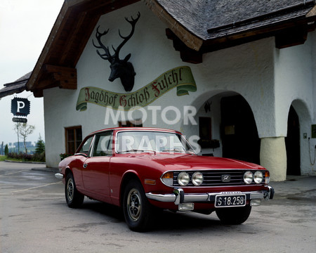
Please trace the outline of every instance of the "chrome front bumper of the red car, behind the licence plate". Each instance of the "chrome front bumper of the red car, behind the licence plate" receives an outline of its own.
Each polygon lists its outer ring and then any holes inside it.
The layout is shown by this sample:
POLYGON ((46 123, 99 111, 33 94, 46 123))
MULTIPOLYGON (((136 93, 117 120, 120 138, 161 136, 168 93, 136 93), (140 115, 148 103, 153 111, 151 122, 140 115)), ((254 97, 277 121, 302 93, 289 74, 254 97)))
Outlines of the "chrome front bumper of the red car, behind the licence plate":
POLYGON ((150 200, 159 202, 174 202, 179 205, 185 202, 214 202, 216 195, 220 194, 246 194, 246 200, 272 200, 275 190, 271 186, 267 186, 267 190, 254 192, 220 192, 220 193, 184 193, 182 188, 174 188, 171 194, 155 194, 146 193, 146 197, 150 200))

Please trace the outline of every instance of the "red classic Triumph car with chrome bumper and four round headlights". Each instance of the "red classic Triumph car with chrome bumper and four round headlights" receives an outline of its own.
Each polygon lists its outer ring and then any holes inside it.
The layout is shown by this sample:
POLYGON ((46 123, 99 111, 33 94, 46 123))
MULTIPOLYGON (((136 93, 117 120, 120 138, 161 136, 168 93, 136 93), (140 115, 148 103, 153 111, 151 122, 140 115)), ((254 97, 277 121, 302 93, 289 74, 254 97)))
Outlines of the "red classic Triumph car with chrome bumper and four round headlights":
POLYGON ((267 169, 196 155, 180 132, 168 129, 93 132, 59 170, 69 207, 79 207, 85 195, 117 205, 133 231, 150 228, 159 209, 215 211, 223 223, 243 223, 251 206, 274 194, 267 169))

